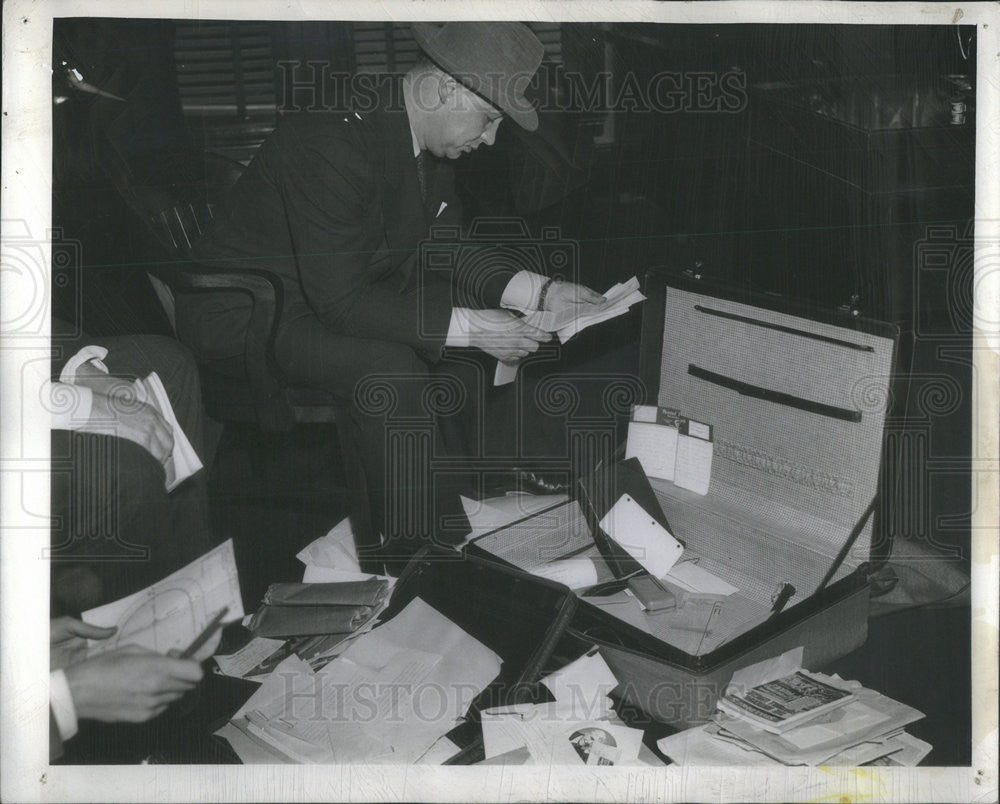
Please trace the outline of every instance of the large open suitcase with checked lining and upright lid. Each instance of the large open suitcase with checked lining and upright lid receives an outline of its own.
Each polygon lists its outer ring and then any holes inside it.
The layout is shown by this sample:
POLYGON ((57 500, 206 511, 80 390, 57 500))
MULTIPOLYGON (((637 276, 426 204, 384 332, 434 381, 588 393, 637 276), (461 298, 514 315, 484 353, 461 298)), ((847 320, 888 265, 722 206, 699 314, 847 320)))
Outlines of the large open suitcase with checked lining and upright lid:
POLYGON ((737 591, 644 612, 623 580, 605 582, 580 593, 565 639, 601 647, 623 703, 686 728, 741 667, 802 646, 804 666, 820 669, 864 643, 897 333, 657 271, 646 296, 646 401, 711 426, 708 491, 647 478, 632 458, 582 480, 577 502, 618 579, 640 565, 599 523, 629 494, 684 544, 683 561, 737 591))

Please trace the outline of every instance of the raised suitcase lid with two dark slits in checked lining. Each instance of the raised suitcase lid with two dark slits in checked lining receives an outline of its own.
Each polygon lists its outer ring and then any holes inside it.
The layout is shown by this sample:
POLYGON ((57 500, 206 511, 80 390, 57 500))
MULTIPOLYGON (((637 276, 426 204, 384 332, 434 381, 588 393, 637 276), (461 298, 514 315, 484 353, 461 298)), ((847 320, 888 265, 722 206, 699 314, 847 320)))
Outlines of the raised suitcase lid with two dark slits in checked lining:
POLYGON ((896 328, 663 271, 646 295, 650 398, 712 426, 699 504, 835 556, 878 489, 896 328))

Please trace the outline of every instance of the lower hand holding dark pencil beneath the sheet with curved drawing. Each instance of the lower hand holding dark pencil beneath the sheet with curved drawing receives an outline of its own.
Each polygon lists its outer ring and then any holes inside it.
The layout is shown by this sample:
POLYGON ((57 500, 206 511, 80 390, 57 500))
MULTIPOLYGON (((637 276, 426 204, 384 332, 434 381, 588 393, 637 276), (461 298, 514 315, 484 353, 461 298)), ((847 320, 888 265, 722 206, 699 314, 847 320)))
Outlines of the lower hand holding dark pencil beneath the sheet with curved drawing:
POLYGON ((77 717, 142 723, 201 681, 201 666, 138 647, 102 653, 66 667, 77 717))

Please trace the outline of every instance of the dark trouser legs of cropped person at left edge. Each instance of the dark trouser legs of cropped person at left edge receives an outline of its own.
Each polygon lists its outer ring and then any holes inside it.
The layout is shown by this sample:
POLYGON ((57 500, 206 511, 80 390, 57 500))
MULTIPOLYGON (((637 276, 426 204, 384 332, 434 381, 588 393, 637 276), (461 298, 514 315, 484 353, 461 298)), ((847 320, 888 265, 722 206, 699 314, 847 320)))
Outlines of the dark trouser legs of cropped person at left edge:
POLYGON ((111 375, 155 371, 205 469, 167 494, 163 467, 132 441, 52 433, 53 599, 89 608, 169 575, 212 546, 206 474, 213 450, 194 360, 155 335, 97 338, 111 375))

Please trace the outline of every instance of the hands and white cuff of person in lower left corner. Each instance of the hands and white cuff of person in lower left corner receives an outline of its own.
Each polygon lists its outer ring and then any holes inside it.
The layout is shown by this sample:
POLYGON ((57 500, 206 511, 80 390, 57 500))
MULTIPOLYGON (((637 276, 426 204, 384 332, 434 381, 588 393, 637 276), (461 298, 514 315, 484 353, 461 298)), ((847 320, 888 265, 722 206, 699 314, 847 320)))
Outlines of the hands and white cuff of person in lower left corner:
POLYGON ((125 647, 87 658, 88 639, 107 639, 100 628, 72 617, 51 622, 49 759, 62 756, 79 721, 142 723, 163 713, 201 681, 198 662, 125 647))

